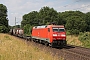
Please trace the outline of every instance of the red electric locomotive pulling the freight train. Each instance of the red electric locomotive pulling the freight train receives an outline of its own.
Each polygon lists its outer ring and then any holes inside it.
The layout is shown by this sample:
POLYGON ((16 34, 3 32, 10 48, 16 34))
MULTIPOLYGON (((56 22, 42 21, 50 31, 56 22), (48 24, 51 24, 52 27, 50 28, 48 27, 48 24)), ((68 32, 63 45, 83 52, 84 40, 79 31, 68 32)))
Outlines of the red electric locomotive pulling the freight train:
POLYGON ((45 43, 52 47, 66 46, 66 32, 63 25, 35 26, 32 29, 34 41, 45 43))

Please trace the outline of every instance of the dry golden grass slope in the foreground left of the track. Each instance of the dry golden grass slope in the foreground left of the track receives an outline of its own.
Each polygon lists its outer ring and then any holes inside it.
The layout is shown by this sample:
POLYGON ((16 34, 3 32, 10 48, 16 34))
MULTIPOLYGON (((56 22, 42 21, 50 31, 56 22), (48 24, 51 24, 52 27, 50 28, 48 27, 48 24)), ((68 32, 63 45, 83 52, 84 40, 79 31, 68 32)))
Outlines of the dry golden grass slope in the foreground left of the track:
POLYGON ((0 60, 63 60, 52 56, 50 52, 45 53, 33 44, 0 33, 0 60))

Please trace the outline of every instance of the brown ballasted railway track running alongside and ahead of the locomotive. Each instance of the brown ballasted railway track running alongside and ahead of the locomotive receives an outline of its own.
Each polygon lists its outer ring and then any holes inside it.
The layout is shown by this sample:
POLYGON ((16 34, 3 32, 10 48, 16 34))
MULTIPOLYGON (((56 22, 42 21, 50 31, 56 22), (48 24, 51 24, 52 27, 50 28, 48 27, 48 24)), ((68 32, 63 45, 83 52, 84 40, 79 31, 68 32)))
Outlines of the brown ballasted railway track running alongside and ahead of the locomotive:
POLYGON ((27 44, 33 43, 40 50, 45 50, 46 53, 50 52, 53 56, 63 58, 63 60, 90 60, 90 49, 79 46, 66 46, 63 49, 47 47, 43 44, 30 42, 31 37, 25 36, 22 39, 27 40, 27 44))

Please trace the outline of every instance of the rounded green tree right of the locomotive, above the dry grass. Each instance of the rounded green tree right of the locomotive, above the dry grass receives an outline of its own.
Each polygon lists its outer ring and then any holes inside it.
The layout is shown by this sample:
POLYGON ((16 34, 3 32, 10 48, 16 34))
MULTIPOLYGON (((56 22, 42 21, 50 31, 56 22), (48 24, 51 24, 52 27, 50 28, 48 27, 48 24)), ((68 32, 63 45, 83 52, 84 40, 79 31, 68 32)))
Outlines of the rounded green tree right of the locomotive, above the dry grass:
POLYGON ((79 34, 79 32, 86 31, 86 26, 85 20, 79 16, 68 17, 65 25, 66 29, 69 30, 71 34, 79 34))

